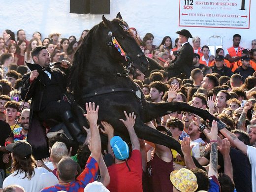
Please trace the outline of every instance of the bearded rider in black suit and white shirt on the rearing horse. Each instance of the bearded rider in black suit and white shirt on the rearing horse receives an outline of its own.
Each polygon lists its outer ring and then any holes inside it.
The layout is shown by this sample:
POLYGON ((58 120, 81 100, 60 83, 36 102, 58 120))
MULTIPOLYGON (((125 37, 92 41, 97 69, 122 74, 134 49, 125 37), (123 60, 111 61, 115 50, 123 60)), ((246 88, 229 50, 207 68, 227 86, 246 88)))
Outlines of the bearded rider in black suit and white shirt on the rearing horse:
POLYGON ((72 137, 83 143, 85 136, 81 134, 79 124, 72 117, 70 104, 63 99, 70 63, 62 61, 64 73, 60 69, 47 68, 50 65, 50 57, 46 47, 37 46, 31 54, 35 65, 38 64, 38 69, 23 76, 21 89, 22 99, 25 99, 26 94, 26 101, 32 98, 30 117, 35 113, 41 122, 47 119, 63 121, 72 137), (41 71, 43 68, 47 70, 41 71))

